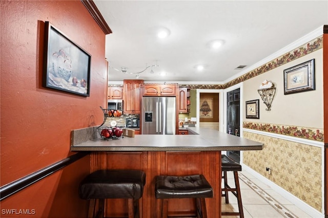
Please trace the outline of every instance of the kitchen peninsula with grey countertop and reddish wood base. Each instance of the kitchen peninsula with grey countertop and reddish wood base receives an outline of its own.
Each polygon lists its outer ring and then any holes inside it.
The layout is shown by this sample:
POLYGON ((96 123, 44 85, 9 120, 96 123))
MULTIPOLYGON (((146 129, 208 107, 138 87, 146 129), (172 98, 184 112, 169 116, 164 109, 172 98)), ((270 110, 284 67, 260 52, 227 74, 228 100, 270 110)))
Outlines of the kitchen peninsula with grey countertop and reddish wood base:
MULTIPOLYGON (((221 217, 221 151, 262 150, 263 144, 213 129, 190 127, 190 135, 135 135, 122 139, 80 141, 72 132, 71 151, 91 151, 91 171, 104 168, 142 169, 146 187, 140 202, 144 218, 158 217, 155 206, 154 177, 157 175, 203 174, 213 187, 214 196, 206 199, 209 218, 221 217)), ((125 216, 127 202, 108 200, 106 216, 125 216), (114 203, 115 201, 115 203, 114 203), (113 207, 115 205, 115 207, 113 207)), ((193 201, 171 199, 170 215, 195 214, 193 201)))

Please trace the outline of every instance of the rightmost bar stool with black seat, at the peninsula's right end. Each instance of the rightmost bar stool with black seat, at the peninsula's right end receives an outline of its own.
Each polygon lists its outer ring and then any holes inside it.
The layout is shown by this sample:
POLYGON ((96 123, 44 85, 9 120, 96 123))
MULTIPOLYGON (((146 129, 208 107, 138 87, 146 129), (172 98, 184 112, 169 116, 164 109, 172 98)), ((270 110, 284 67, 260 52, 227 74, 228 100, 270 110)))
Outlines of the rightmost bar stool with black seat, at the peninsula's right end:
POLYGON ((221 211, 221 215, 239 215, 240 218, 244 217, 243 209, 242 209, 242 202, 241 202, 241 194, 240 194, 240 186, 239 186, 239 177, 238 171, 241 171, 241 165, 234 161, 233 159, 229 158, 227 155, 221 155, 221 171, 222 171, 222 179, 224 187, 222 188, 221 196, 226 199, 226 203, 229 204, 229 191, 233 193, 234 196, 237 198, 238 202, 238 212, 223 212, 221 211), (235 188, 231 188, 228 184, 228 177, 227 172, 233 171, 234 174, 234 181, 235 181, 235 188))

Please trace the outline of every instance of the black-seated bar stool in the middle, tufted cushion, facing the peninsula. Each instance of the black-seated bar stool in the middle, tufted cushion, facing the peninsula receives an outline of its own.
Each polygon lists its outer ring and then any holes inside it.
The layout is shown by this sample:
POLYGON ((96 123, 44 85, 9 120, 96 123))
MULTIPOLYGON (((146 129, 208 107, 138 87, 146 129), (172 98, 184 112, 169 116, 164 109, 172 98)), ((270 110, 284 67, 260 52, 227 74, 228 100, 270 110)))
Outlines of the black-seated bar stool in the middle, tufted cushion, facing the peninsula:
POLYGON ((168 217, 168 199, 172 198, 194 198, 197 217, 207 218, 205 198, 213 197, 213 189, 203 175, 156 176, 155 197, 160 199, 161 218, 168 217))

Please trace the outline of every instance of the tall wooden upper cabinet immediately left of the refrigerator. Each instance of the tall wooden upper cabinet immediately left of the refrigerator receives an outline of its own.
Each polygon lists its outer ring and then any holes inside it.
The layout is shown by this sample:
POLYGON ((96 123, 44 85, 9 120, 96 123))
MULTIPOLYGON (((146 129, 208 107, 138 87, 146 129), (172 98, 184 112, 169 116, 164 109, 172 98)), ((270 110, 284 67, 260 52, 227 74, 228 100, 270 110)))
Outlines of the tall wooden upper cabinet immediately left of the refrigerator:
POLYGON ((144 80, 124 80, 123 107, 124 113, 140 114, 140 84, 144 80))

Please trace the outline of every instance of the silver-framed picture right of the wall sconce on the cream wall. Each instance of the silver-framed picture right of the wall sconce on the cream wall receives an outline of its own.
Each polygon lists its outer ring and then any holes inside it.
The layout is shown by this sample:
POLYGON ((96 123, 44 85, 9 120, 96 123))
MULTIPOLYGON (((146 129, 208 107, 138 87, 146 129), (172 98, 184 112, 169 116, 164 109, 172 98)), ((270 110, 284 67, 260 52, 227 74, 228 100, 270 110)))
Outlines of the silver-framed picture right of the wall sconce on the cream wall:
POLYGON ((315 90, 314 59, 283 70, 284 94, 315 90))

